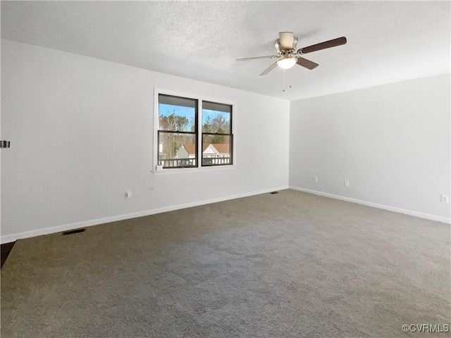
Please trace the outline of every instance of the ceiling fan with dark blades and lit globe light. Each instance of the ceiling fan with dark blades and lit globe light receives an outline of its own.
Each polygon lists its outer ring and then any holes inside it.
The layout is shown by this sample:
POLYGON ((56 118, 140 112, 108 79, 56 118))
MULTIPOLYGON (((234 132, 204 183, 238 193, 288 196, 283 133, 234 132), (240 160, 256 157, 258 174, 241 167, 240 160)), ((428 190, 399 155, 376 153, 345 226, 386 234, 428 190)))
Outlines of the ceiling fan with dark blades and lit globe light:
POLYGON ((257 56, 254 58, 237 58, 237 61, 257 60, 259 58, 278 58, 278 60, 266 68, 261 75, 266 75, 278 65, 282 69, 292 68, 298 64, 307 69, 314 69, 319 66, 318 63, 302 58, 301 55, 311 53, 312 51, 321 51, 335 46, 346 44, 346 37, 338 37, 337 39, 328 40, 319 44, 312 44, 304 48, 296 50, 297 37, 292 32, 280 32, 279 38, 276 40, 276 49, 278 55, 273 56, 257 56))

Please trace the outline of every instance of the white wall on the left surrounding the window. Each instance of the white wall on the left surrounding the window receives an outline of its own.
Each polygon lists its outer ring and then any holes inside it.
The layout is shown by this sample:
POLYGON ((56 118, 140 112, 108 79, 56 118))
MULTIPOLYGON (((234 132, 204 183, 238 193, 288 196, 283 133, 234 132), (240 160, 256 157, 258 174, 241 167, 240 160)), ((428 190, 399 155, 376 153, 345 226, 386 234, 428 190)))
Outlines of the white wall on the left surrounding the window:
POLYGON ((288 187, 288 101, 2 39, 1 108, 1 242, 288 187), (235 168, 153 175, 154 87, 236 101, 235 168))

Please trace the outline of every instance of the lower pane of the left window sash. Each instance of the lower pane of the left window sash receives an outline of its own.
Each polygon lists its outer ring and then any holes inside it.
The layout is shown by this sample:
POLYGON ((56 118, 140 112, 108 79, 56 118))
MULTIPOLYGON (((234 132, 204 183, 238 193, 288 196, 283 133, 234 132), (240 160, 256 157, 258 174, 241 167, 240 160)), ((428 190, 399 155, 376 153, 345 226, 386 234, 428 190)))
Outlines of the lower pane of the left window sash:
POLYGON ((158 165, 163 168, 196 167, 196 135, 159 132, 158 165))

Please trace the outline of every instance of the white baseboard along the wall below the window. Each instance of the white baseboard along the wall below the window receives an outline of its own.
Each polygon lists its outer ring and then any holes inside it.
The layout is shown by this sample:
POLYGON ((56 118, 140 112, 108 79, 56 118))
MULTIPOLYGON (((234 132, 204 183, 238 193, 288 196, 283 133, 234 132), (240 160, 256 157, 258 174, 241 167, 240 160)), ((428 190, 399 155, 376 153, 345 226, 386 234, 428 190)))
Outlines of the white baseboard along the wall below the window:
POLYGON ((244 193, 244 194, 237 194, 237 195, 232 195, 232 196, 224 196, 224 197, 219 197, 217 199, 207 199, 207 200, 204 200, 204 201, 197 201, 197 202, 188 203, 188 204, 179 204, 177 206, 167 206, 165 208, 157 208, 157 209, 152 209, 152 210, 147 210, 147 211, 140 211, 140 212, 137 212, 137 213, 128 213, 128 214, 125 214, 125 215, 116 215, 116 216, 111 216, 111 217, 106 217, 106 218, 99 218, 97 220, 86 220, 86 221, 83 221, 83 222, 69 223, 69 224, 64 224, 64 225, 57 225, 56 227, 45 227, 43 229, 31 230, 31 231, 26 231, 26 232, 19 232, 17 234, 7 234, 7 235, 4 235, 4 236, 0 237, 0 243, 4 244, 4 243, 9 243, 9 242, 14 242, 14 241, 16 241, 18 239, 42 236, 43 234, 53 234, 55 232, 63 232, 63 231, 67 231, 67 230, 78 229, 80 227, 90 227, 92 225, 99 225, 99 224, 104 224, 104 223, 116 222, 118 220, 128 220, 130 218, 137 218, 137 217, 142 217, 142 216, 154 215, 156 213, 166 213, 167 211, 174 211, 174 210, 178 210, 178 209, 191 208, 193 206, 203 206, 205 204, 211 204, 211 203, 216 203, 216 202, 228 201, 229 199, 240 199, 242 197, 254 196, 254 195, 259 195, 259 194, 266 194, 268 192, 273 192, 275 190, 283 190, 283 189, 288 189, 288 186, 276 187, 276 188, 271 188, 271 189, 264 189, 264 190, 259 190, 257 192, 247 192, 247 193, 244 193))

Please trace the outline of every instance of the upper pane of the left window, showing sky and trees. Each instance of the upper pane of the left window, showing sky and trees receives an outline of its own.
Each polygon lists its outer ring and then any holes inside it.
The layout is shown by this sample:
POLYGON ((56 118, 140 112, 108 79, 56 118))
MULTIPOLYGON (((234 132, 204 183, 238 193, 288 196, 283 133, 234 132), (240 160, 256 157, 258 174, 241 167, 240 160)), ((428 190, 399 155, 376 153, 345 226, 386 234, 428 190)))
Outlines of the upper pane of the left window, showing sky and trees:
POLYGON ((194 132, 197 100, 159 94, 159 130, 194 132))

